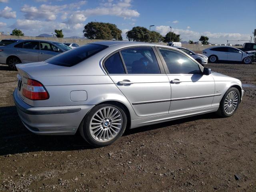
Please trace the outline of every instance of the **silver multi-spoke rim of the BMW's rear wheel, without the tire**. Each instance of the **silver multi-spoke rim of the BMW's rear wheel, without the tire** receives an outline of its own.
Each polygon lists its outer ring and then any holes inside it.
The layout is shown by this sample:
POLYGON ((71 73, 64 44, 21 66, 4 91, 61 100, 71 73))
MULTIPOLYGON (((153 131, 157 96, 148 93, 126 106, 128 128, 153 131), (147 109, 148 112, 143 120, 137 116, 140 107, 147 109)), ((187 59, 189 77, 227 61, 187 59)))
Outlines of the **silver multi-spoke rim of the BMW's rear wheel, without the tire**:
POLYGON ((98 142, 115 138, 123 125, 121 112, 112 106, 100 108, 90 120, 90 135, 98 142))

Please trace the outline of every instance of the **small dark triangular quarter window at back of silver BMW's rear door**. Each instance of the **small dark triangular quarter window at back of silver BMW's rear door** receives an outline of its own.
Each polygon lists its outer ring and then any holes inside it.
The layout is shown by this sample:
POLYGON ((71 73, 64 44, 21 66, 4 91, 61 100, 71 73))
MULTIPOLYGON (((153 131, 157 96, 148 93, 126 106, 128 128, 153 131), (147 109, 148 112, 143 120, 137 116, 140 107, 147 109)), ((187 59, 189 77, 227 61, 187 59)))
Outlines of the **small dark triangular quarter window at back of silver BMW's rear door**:
POLYGON ((109 74, 125 74, 124 65, 119 52, 110 56, 110 58, 105 61, 104 66, 109 74))

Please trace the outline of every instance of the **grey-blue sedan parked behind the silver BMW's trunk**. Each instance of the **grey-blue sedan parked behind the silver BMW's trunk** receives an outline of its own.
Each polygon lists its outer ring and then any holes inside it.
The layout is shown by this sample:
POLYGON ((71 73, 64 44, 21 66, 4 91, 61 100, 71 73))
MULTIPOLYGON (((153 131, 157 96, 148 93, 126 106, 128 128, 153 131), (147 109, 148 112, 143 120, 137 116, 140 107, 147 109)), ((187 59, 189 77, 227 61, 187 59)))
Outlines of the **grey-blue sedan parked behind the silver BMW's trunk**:
POLYGON ((6 46, 0 46, 0 63, 16 69, 18 63, 44 61, 52 56, 72 48, 59 42, 44 40, 18 40, 6 46))

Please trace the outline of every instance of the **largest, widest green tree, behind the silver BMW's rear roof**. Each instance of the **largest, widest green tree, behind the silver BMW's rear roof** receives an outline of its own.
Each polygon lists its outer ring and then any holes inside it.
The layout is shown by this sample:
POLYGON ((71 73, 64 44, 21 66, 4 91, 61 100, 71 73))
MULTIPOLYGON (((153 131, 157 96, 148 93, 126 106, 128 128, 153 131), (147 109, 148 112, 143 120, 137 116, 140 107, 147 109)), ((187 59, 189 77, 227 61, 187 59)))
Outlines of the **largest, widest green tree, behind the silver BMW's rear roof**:
POLYGON ((89 22, 84 26, 83 32, 90 39, 122 40, 122 31, 112 23, 89 22))

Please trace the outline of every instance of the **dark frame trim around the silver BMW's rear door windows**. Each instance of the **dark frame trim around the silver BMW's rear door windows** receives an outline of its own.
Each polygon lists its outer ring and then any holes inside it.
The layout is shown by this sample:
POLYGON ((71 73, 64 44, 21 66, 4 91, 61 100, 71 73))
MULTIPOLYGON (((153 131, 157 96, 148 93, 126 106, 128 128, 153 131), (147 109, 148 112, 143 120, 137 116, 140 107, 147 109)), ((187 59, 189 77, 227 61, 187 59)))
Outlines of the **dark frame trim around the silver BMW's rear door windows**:
POLYGON ((102 68, 105 70, 106 74, 111 74, 111 75, 162 75, 162 74, 166 74, 166 72, 164 70, 164 66, 162 64, 162 61, 159 58, 159 55, 158 55, 158 52, 156 51, 155 46, 150 46, 150 45, 146 45, 146 46, 128 46, 128 47, 124 47, 124 48, 115 50, 114 52, 111 52, 105 58, 103 58, 103 60, 102 60, 102 68), (154 54, 156 56, 158 67, 160 69, 160 74, 128 74, 127 69, 126 69, 126 65, 124 63, 123 56, 121 54, 121 51, 122 50, 126 50, 126 49, 130 49, 130 48, 143 48, 143 47, 150 47, 150 48, 152 48, 152 50, 153 50, 153 52, 154 52, 154 54), (122 64, 124 66, 124 71, 125 71, 124 74, 111 74, 111 73, 108 73, 108 70, 105 67, 106 60, 108 60, 108 58, 110 58, 112 55, 116 54, 117 52, 119 53, 119 56, 121 57, 121 60, 122 60, 122 64))

